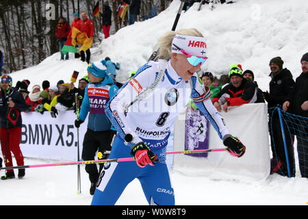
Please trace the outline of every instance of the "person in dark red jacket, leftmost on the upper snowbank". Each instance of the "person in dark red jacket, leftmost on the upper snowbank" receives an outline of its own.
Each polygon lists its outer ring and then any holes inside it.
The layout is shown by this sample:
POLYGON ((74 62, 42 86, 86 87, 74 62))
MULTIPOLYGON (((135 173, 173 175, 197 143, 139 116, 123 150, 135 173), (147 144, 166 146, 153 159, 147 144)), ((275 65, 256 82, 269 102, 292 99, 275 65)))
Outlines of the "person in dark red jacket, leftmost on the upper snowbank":
MULTIPOLYGON (((70 25, 66 23, 65 18, 60 17, 59 22, 57 23, 57 27, 55 27, 55 36, 57 37, 57 41, 60 47, 60 53, 62 47, 67 40, 68 34, 70 33, 70 25)), ((61 53, 61 60, 64 60, 64 54, 61 53)), ((68 60, 68 53, 65 55, 65 60, 68 60)))

